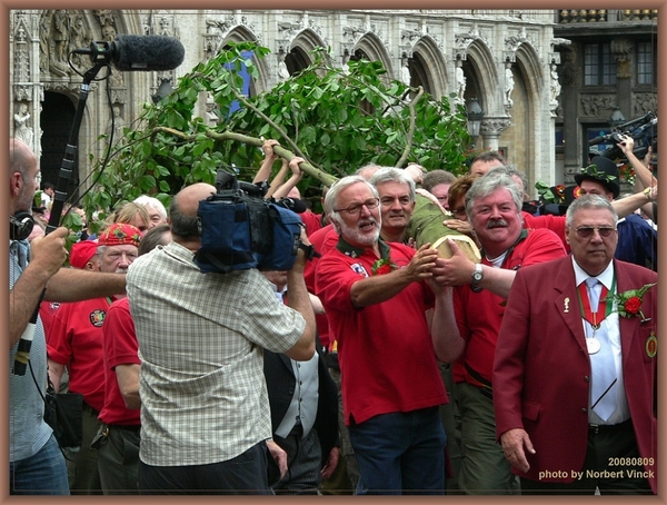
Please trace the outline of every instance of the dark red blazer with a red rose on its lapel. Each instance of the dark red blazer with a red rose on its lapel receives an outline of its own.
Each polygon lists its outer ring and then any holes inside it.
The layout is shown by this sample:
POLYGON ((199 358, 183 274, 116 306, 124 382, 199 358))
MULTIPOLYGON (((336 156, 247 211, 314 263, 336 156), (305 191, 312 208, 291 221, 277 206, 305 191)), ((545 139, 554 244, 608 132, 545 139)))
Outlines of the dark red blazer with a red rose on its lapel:
MULTIPOLYGON (((614 260, 618 293, 657 283, 656 273, 614 260)), ((639 317, 620 317, 620 339, 625 392, 643 457, 653 472, 656 492, 657 469, 657 355, 651 357, 647 341, 657 337, 657 288, 644 296, 639 317)), ((511 428, 524 428, 536 454, 527 454, 530 469, 521 477, 538 481, 539 472, 563 472, 573 482, 580 472, 588 437, 588 389, 590 360, 571 257, 559 258, 517 271, 500 326, 494 362, 494 408, 498 438, 511 428), (569 298, 569 300, 567 300, 569 298)), ((650 343, 648 344, 650 347, 650 343)), ((609 467, 609 471, 620 469, 609 467)))

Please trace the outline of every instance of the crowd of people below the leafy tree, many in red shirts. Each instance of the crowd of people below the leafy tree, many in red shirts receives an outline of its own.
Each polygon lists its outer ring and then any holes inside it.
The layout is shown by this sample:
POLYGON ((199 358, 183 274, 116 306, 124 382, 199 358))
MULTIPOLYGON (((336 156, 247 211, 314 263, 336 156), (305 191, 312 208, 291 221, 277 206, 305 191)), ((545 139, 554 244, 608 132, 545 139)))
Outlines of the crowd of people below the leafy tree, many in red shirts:
MULTIPOLYGON (((302 201, 277 145, 253 182, 302 201)), ((636 191, 594 157, 557 215, 495 151, 460 177, 367 165, 298 206, 290 270, 203 274, 215 186, 123 202, 68 251, 10 139, 10 493, 657 494, 657 179, 619 148, 636 191), (82 396, 79 447, 49 382, 82 396)))

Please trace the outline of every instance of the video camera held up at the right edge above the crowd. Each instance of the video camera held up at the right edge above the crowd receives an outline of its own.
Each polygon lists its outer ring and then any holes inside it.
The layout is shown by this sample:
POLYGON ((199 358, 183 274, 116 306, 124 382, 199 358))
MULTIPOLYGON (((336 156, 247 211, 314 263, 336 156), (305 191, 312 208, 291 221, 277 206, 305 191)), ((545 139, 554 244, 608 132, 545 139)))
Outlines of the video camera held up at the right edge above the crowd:
POLYGON ((589 146, 596 146, 603 142, 613 142, 614 145, 604 151, 598 152, 608 159, 625 158, 623 151, 617 143, 623 142, 623 136, 627 135, 635 140, 633 149, 634 155, 638 159, 643 159, 648 152, 648 148, 653 147, 656 152, 656 142, 658 138, 658 116, 654 111, 649 111, 640 118, 624 122, 613 129, 608 135, 596 137, 588 141, 589 146))

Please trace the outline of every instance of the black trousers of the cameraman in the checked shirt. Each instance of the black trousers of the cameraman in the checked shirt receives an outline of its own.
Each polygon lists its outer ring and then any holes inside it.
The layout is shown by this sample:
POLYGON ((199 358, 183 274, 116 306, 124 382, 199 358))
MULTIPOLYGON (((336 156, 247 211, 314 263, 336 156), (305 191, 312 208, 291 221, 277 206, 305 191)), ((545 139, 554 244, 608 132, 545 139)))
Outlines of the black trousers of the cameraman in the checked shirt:
POLYGON ((139 462, 142 495, 272 495, 267 477, 267 444, 208 465, 151 466, 139 462))

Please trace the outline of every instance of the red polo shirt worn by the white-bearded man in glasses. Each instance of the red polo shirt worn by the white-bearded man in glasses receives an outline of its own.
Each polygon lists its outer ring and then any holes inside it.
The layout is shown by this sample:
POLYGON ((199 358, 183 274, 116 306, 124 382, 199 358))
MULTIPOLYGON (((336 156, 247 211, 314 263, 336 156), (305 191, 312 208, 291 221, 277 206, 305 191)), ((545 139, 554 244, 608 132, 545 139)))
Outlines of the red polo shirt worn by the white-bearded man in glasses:
MULTIPOLYGON (((380 249, 399 268, 415 255, 401 244, 380 241, 380 249)), ((352 307, 351 287, 372 275, 376 260, 372 249, 355 249, 340 240, 317 265, 316 294, 338 338, 347 425, 352 418, 364 423, 379 414, 448 402, 425 316, 435 304, 426 283, 411 283, 380 304, 352 307)))

